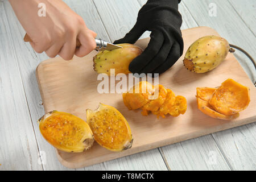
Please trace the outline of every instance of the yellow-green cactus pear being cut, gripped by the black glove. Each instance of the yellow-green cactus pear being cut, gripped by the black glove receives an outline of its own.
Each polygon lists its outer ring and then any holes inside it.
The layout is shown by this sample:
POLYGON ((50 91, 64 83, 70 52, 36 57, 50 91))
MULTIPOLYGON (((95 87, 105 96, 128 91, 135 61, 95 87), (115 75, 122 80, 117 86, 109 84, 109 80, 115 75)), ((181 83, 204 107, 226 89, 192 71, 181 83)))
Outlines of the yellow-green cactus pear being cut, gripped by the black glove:
POLYGON ((129 64, 131 61, 141 55, 142 49, 133 44, 117 44, 122 48, 112 51, 100 51, 93 57, 94 71, 97 73, 106 73, 110 76, 110 69, 115 69, 115 75, 118 73, 130 73, 129 64))

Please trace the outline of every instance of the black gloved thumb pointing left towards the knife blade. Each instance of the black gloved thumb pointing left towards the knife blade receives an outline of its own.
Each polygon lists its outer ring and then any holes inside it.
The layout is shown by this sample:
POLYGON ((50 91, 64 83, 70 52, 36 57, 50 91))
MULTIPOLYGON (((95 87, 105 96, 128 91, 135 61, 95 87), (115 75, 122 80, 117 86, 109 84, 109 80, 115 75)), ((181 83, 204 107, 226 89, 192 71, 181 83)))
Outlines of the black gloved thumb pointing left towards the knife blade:
POLYGON ((141 27, 137 26, 137 23, 122 39, 115 40, 114 44, 130 43, 134 44, 144 33, 141 27))

